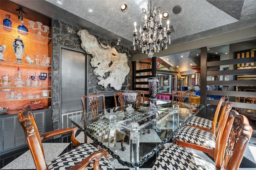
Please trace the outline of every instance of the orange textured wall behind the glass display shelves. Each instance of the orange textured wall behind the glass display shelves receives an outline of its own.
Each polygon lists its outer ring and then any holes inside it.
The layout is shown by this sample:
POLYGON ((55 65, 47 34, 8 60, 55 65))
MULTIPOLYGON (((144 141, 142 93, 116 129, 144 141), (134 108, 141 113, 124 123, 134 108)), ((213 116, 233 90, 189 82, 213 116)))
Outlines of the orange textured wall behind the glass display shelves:
MULTIPOLYGON (((35 54, 38 53, 38 59, 39 61, 42 60, 42 55, 46 55, 48 57, 48 44, 46 43, 39 43, 36 41, 31 41, 31 39, 34 39, 34 36, 31 34, 28 35, 21 35, 18 33, 17 28, 18 25, 21 25, 20 20, 18 20, 18 15, 14 15, 9 12, 5 12, 3 10, 0 10, 0 20, 1 20, 1 25, 3 25, 3 20, 5 19, 5 15, 10 14, 10 20, 12 21, 12 31, 7 32, 3 29, 1 26, 0 28, 0 45, 6 45, 6 50, 2 53, 4 55, 4 61, 12 61, 16 62, 17 59, 15 58, 14 55, 14 50, 12 48, 12 43, 15 41, 15 39, 20 36, 20 39, 22 39, 23 43, 25 44, 25 49, 24 49, 24 55, 23 59, 21 60, 22 63, 27 63, 26 61, 26 55, 29 55, 32 60, 36 58, 35 54), (7 35, 6 35, 7 34, 7 35)), ((18 13, 17 13, 18 14, 18 13)), ((24 16, 25 17, 25 16, 24 16)), ((28 28, 29 33, 37 34, 38 31, 32 30, 28 26, 28 21, 26 18, 23 18, 24 21, 24 26, 28 28)), ((37 28, 37 25, 35 24, 35 27, 37 28)), ((42 33, 42 36, 48 37, 47 33, 42 33)), ((40 39, 43 37, 36 36, 36 39, 40 39)), ((51 65, 51 64, 50 64, 51 65)), ((48 84, 48 69, 47 67, 38 67, 35 64, 31 64, 30 67, 28 65, 22 65, 22 64, 14 64, 14 63, 8 63, 8 62, 0 62, 0 76, 4 76, 5 74, 9 74, 10 77, 12 77, 12 87, 16 86, 14 84, 14 76, 18 74, 18 67, 22 71, 22 78, 25 80, 27 78, 27 73, 30 73, 30 75, 40 75, 40 72, 45 72, 47 73, 47 78, 44 80, 44 85, 46 86, 48 84), (20 65, 20 66, 19 66, 20 65)), ((20 87, 20 92, 23 95, 23 99, 25 100, 10 100, 10 101, 2 101, 0 102, 0 106, 8 106, 10 110, 15 110, 15 109, 22 109, 23 104, 30 102, 30 101, 42 101, 45 102, 44 106, 48 106, 48 98, 40 98, 40 99, 26 99, 26 96, 32 92, 33 95, 40 95, 41 97, 41 90, 48 90, 47 87, 39 87, 39 88, 34 88, 34 87, 20 87)), ((8 87, 7 87, 8 88, 8 87)), ((0 88, 4 89, 4 88, 0 88)), ((14 92, 18 92, 18 87, 17 88, 12 88, 14 89, 14 92)), ((5 93, 0 92, 0 100, 4 100, 5 98, 5 93)))

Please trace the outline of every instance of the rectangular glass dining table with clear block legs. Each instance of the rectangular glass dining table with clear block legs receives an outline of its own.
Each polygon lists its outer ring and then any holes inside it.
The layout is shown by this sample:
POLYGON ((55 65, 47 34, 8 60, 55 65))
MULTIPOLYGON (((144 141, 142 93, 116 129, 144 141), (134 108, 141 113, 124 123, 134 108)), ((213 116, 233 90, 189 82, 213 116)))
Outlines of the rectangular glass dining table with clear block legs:
POLYGON ((148 106, 144 104, 134 108, 134 111, 126 111, 126 107, 99 110, 96 121, 106 120, 95 127, 101 129, 100 133, 88 128, 90 123, 95 122, 91 121, 90 111, 68 119, 121 165, 138 169, 158 154, 164 144, 172 142, 180 128, 204 107, 193 103, 172 103, 171 100, 156 100, 157 111, 148 109, 148 106))

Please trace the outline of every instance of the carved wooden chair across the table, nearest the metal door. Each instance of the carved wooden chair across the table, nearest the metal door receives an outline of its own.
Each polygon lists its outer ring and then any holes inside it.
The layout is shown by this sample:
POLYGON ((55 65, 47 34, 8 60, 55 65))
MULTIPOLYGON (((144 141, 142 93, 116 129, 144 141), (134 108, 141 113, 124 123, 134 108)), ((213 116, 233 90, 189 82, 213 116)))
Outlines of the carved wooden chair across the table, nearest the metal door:
MULTIPOLYGON (((104 94, 90 94, 88 96, 81 96, 83 114, 84 114, 84 128, 88 128, 95 137, 103 137, 108 133, 108 119, 100 119, 98 113, 99 109, 103 109, 101 117, 104 117, 105 95, 104 94), (86 104, 89 110, 86 112, 86 104), (100 108, 102 106, 102 108, 100 108), (90 113, 90 114, 88 114, 90 113), (100 125, 100 126, 99 126, 100 125)), ((87 135, 84 136, 84 143, 87 143, 87 135)), ((94 146, 97 147, 96 143, 94 146)))

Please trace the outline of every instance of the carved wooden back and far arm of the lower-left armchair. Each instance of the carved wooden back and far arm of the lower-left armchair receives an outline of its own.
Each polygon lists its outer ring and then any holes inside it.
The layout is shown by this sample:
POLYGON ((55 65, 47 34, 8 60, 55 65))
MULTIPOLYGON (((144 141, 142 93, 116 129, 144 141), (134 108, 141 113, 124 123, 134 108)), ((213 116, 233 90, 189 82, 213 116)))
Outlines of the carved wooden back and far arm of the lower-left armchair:
POLYGON ((18 120, 24 130, 26 141, 28 143, 28 147, 33 157, 36 169, 47 170, 46 161, 44 158, 44 149, 42 147, 42 141, 44 141, 45 139, 48 139, 55 135, 72 132, 72 143, 75 145, 75 147, 78 147, 80 145, 80 143, 75 138, 76 131, 78 130, 77 127, 60 129, 40 135, 30 106, 26 106, 18 113, 18 120))

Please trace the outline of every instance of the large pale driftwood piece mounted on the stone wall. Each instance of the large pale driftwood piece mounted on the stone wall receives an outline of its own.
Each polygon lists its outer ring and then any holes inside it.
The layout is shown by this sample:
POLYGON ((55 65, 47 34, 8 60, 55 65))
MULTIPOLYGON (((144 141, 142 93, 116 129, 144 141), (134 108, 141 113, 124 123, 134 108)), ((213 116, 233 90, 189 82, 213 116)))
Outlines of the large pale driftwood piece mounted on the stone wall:
POLYGON ((92 67, 95 67, 93 73, 98 76, 98 85, 106 88, 110 84, 110 87, 120 90, 125 77, 130 72, 126 54, 118 53, 114 47, 111 48, 109 45, 98 43, 96 37, 85 29, 80 29, 77 34, 82 41, 82 49, 92 55, 90 63, 92 67), (105 73, 108 72, 109 76, 105 77, 105 73))

